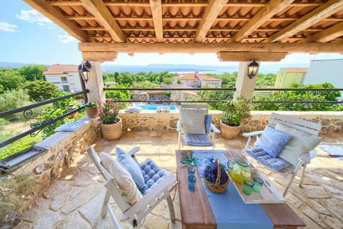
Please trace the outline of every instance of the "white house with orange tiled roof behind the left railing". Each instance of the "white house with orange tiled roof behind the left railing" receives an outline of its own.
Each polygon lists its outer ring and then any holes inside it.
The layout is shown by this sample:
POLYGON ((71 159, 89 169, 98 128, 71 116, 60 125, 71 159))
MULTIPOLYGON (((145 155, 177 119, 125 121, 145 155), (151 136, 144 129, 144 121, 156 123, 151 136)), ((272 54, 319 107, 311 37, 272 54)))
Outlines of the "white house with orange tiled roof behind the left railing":
POLYGON ((82 91, 77 65, 53 64, 44 71, 43 75, 46 81, 54 83, 60 91, 71 93, 82 91))

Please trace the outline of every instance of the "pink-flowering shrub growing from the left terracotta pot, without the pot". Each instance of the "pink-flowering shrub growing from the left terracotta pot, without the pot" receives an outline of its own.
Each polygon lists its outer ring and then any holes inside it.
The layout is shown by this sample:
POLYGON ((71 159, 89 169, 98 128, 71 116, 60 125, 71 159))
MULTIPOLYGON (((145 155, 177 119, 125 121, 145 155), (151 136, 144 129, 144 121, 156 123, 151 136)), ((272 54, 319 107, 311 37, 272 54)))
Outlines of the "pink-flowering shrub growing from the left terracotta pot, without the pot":
POLYGON ((113 124, 119 122, 117 118, 121 106, 114 103, 113 98, 109 98, 105 103, 99 103, 99 117, 103 124, 113 124))

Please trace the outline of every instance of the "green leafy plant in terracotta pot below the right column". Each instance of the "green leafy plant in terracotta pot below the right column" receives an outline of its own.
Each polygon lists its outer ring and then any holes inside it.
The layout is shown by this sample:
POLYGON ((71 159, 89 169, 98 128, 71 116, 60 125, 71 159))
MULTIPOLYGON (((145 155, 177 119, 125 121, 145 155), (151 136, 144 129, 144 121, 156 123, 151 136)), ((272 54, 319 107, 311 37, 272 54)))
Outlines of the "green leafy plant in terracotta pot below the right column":
POLYGON ((242 120, 249 116, 251 100, 238 97, 234 101, 227 101, 221 105, 222 118, 220 120, 220 133, 223 138, 232 139, 241 130, 242 120))

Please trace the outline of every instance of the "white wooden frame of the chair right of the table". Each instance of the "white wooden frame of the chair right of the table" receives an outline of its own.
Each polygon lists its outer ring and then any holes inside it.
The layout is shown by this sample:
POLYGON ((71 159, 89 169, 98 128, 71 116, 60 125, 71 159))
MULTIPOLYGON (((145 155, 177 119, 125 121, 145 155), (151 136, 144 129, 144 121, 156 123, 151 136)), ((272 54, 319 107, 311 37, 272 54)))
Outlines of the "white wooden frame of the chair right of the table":
MULTIPOLYGON (((281 115, 278 113, 272 113, 271 117, 269 119, 268 125, 275 127, 275 126, 277 126, 278 123, 280 123, 284 126, 287 126, 289 128, 294 128, 298 131, 304 131, 305 133, 309 133, 310 135, 313 135, 313 136, 318 136, 319 131, 322 128, 322 125, 320 123, 314 123, 314 122, 305 121, 305 120, 302 120, 299 118, 293 118, 293 117, 284 116, 284 115, 281 115)), ((258 138, 262 135, 263 132, 264 131, 254 131, 251 133, 243 133, 243 136, 248 138, 247 145, 245 146, 243 152, 248 153, 250 156, 252 156, 257 161, 264 163, 264 166, 268 166, 264 161, 265 155, 261 154, 260 149, 256 146, 250 146, 252 143, 252 139, 254 137, 256 137, 258 140, 258 138), (254 151, 254 150, 256 150, 256 151, 254 151)), ((316 141, 320 142, 322 140, 319 137, 316 137, 316 138, 318 138, 318 140, 316 140, 316 141)), ((318 143, 316 142, 315 144, 318 144, 318 143)), ((287 144, 286 144, 286 146, 287 146, 287 144)), ((308 151, 307 153, 304 153, 304 154, 299 156, 299 158, 297 159, 298 162, 297 162, 296 166, 288 166, 287 168, 282 168, 282 170, 278 171, 279 173, 282 173, 282 175, 284 175, 284 177, 287 177, 287 175, 292 173, 292 177, 290 178, 289 183, 287 184, 283 195, 287 194, 287 191, 289 190, 289 187, 292 184, 292 181, 294 180, 295 176, 297 175, 297 172, 299 171, 299 169, 301 167, 303 167, 303 171, 302 171, 302 176, 301 176, 301 179, 299 182, 299 187, 302 187, 302 182, 304 179, 304 174, 306 171, 307 164, 311 163, 311 159, 314 158, 314 156, 316 156, 316 154, 317 154, 317 151, 314 149, 312 151, 308 151)), ((275 158, 272 158, 272 159, 274 160, 275 158)), ((277 157, 276 159, 282 160, 282 158, 279 158, 279 157, 277 157)))

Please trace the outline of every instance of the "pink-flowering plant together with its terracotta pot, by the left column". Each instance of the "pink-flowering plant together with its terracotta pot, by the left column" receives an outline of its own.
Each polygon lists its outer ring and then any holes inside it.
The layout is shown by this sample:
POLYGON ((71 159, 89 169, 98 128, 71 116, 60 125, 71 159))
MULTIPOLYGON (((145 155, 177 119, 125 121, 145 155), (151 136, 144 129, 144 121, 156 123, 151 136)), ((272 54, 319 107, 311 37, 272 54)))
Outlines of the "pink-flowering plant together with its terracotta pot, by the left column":
POLYGON ((101 133, 106 140, 120 138, 122 132, 121 118, 118 117, 121 106, 114 103, 113 98, 107 99, 105 103, 99 103, 99 120, 101 133))

